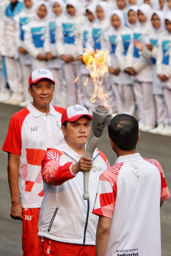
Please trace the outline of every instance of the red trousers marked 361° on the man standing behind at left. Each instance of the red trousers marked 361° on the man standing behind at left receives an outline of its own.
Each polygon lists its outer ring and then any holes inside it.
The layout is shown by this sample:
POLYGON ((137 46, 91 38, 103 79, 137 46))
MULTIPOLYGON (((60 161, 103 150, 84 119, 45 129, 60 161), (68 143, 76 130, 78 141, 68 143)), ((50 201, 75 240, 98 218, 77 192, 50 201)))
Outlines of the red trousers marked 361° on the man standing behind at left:
POLYGON ((38 221, 40 208, 23 208, 23 256, 40 256, 38 221))

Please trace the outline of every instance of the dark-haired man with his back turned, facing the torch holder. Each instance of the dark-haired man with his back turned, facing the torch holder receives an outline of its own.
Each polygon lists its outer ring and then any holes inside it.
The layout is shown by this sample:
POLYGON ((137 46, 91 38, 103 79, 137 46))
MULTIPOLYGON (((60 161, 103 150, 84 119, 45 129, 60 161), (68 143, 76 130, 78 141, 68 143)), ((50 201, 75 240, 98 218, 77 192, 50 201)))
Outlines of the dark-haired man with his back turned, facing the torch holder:
POLYGON ((162 166, 136 153, 138 122, 112 118, 116 163, 101 176, 93 214, 99 216, 96 256, 161 256, 160 207, 170 197, 162 166))

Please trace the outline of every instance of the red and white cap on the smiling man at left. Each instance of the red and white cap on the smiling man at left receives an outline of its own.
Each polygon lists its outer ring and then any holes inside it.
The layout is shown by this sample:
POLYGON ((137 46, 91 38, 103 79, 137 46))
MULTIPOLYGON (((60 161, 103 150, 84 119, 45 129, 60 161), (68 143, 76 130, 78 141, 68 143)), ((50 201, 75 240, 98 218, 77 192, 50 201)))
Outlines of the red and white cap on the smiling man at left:
POLYGON ((30 78, 28 80, 29 86, 31 84, 37 83, 43 78, 47 78, 55 84, 53 73, 50 70, 39 68, 31 72, 30 78))

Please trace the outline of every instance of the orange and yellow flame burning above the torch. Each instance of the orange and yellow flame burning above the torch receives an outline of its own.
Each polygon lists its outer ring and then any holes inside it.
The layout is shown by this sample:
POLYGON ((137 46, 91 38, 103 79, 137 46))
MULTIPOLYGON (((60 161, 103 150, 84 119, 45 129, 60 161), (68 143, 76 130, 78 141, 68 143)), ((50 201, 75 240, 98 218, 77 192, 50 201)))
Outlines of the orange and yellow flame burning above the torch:
MULTIPOLYGON (((90 75, 92 78, 92 83, 94 85, 94 92, 91 98, 91 101, 94 103, 97 101, 100 104, 104 104, 105 107, 111 109, 110 104, 106 100, 108 98, 107 93, 103 91, 102 83, 103 76, 105 73, 109 76, 109 70, 107 63, 110 61, 110 57, 107 57, 108 50, 104 52, 96 50, 95 52, 91 52, 87 49, 85 50, 85 54, 81 56, 83 61, 85 62, 86 68, 90 71, 90 75)), ((86 85, 87 80, 85 81, 86 85)))

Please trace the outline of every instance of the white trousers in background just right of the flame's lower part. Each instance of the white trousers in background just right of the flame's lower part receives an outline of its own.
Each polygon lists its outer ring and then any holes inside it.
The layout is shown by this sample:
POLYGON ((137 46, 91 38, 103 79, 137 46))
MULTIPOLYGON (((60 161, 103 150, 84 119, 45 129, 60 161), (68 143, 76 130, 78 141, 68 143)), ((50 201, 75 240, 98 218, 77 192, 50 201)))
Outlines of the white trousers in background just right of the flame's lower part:
POLYGON ((116 107, 119 114, 124 113, 123 90, 121 84, 112 83, 112 89, 116 98, 116 107))

